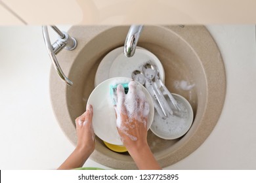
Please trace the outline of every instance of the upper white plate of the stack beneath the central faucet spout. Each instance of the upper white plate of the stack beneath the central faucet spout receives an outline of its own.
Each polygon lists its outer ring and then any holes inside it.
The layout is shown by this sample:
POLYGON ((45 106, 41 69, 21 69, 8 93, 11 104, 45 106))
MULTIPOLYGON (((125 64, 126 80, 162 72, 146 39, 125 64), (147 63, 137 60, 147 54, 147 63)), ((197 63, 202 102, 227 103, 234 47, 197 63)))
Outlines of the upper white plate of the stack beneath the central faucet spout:
POLYGON ((142 71, 142 66, 149 61, 158 67, 160 79, 164 80, 164 70, 161 61, 148 50, 142 49, 137 49, 136 53, 131 58, 125 57, 123 53, 119 54, 110 67, 109 77, 114 78, 118 76, 131 78, 133 71, 142 71))

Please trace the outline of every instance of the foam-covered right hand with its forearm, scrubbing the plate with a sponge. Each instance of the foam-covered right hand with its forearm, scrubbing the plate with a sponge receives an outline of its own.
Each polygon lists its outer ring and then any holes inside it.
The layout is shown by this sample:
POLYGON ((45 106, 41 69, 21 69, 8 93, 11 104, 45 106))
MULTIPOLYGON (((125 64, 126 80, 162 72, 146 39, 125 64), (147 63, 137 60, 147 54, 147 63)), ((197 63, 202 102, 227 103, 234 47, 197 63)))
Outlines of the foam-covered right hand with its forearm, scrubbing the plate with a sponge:
POLYGON ((117 131, 139 169, 161 169, 147 142, 147 122, 150 107, 142 88, 136 82, 129 83, 125 94, 123 86, 117 86, 117 131))

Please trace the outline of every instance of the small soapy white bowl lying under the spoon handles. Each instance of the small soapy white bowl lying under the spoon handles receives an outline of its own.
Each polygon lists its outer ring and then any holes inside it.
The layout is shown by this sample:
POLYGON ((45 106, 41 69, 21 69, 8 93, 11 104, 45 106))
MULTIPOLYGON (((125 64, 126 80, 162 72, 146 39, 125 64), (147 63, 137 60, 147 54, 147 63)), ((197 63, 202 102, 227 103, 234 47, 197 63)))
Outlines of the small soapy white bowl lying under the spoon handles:
POLYGON ((172 93, 180 110, 176 110, 169 97, 165 95, 167 103, 173 110, 173 116, 163 120, 158 112, 155 112, 154 120, 150 127, 151 131, 161 139, 178 139, 190 129, 193 122, 193 110, 190 103, 181 95, 172 93))

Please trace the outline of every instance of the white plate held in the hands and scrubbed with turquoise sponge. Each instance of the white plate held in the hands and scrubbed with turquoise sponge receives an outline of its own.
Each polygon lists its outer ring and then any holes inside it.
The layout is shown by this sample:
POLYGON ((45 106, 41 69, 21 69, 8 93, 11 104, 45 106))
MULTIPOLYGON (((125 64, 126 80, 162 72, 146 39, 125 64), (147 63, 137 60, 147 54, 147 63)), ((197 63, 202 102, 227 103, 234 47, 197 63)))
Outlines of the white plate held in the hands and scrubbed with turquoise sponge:
MULTIPOLYGON (((93 129, 95 134, 110 144, 122 145, 116 127, 116 112, 114 110, 112 99, 110 97, 110 85, 128 83, 131 78, 110 78, 105 80, 98 86, 89 96, 87 104, 93 105, 93 129)), ((150 105, 150 113, 148 116, 148 129, 154 118, 154 104, 148 90, 142 85, 142 91, 146 95, 146 100, 150 105)))

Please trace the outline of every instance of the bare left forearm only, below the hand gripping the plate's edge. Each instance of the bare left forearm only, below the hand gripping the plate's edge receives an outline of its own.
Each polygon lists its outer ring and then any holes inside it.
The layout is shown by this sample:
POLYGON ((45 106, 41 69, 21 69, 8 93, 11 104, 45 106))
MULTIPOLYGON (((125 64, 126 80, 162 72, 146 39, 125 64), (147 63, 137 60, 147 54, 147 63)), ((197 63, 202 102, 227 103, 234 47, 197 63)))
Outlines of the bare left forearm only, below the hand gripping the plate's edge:
POLYGON ((58 167, 58 170, 69 170, 82 167, 85 161, 91 155, 90 152, 83 150, 81 148, 75 148, 74 152, 58 167))

